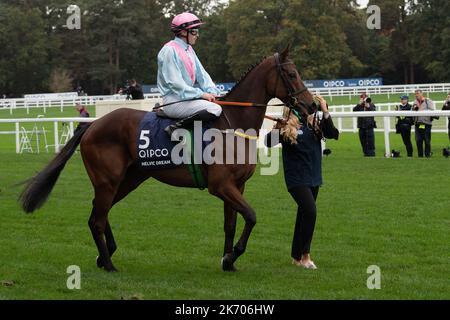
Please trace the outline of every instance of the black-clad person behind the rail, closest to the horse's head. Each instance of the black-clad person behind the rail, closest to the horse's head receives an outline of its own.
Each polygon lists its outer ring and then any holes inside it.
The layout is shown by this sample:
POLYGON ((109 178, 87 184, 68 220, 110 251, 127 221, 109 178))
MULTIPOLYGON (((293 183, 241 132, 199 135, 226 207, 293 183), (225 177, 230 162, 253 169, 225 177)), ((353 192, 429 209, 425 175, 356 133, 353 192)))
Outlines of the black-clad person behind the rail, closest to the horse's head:
MULTIPOLYGON (((366 94, 360 96, 359 104, 353 111, 375 111, 376 107, 372 103, 372 99, 366 94)), ((377 127, 374 117, 359 117, 359 141, 365 157, 375 157, 375 133, 374 128, 377 127)))

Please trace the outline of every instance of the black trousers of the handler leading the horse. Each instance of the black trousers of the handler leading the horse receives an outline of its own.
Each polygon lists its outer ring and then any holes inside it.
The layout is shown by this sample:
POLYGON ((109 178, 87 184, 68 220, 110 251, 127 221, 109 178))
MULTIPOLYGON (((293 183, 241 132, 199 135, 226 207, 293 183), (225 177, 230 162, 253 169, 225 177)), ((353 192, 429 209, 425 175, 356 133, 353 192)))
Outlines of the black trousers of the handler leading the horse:
POLYGON ((319 187, 294 187, 289 190, 298 205, 292 239, 291 256, 300 260, 302 254, 309 253, 316 225, 316 199, 319 187))

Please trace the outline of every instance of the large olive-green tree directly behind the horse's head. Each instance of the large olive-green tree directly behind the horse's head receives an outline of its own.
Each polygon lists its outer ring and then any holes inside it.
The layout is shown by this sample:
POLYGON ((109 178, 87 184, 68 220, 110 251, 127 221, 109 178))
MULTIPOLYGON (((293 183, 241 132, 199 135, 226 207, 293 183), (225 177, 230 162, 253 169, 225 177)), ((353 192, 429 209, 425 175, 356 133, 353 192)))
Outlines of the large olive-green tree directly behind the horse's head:
MULTIPOLYGON (((346 2, 343 2, 347 5, 346 2)), ((318 0, 234 1, 226 10, 228 62, 237 76, 258 57, 292 43, 291 58, 306 79, 352 74, 362 64, 346 43, 338 3, 318 0)))

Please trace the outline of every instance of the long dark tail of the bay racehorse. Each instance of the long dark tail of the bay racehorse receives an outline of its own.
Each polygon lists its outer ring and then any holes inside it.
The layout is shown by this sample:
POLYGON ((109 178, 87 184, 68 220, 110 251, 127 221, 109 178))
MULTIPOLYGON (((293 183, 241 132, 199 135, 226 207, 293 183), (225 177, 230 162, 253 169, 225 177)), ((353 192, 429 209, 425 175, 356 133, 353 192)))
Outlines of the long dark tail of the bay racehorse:
POLYGON ((58 180, 59 174, 75 152, 77 146, 80 144, 81 137, 89 126, 90 124, 85 124, 76 130, 74 136, 67 142, 58 155, 41 172, 24 182, 26 186, 19 196, 19 202, 25 212, 31 213, 42 207, 45 201, 47 201, 48 196, 55 186, 56 180, 58 180))

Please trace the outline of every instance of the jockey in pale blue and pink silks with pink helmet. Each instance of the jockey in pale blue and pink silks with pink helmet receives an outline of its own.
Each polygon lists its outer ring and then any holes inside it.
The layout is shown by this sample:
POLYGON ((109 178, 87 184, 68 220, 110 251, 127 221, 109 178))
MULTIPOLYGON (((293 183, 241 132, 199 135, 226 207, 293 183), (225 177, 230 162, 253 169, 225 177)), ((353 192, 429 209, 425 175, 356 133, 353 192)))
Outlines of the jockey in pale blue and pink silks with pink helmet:
POLYGON ((194 14, 184 12, 172 20, 174 40, 166 43, 158 54, 158 89, 170 118, 179 119, 165 131, 171 136, 178 128, 191 127, 194 121, 209 121, 220 116, 222 109, 214 103, 220 91, 203 68, 192 48, 203 22, 194 14), (194 87, 195 84, 198 86, 194 87))

